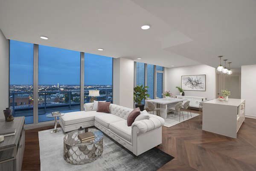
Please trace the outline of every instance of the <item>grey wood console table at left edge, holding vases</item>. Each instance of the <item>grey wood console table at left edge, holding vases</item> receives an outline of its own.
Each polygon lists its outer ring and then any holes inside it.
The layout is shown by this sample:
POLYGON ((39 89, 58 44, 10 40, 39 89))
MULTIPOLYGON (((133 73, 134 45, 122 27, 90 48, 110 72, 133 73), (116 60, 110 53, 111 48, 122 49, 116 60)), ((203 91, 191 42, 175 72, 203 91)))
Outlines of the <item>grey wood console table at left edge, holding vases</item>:
POLYGON ((0 171, 20 171, 25 149, 25 117, 15 117, 11 122, 0 119, 0 130, 16 128, 14 136, 0 142, 0 171))

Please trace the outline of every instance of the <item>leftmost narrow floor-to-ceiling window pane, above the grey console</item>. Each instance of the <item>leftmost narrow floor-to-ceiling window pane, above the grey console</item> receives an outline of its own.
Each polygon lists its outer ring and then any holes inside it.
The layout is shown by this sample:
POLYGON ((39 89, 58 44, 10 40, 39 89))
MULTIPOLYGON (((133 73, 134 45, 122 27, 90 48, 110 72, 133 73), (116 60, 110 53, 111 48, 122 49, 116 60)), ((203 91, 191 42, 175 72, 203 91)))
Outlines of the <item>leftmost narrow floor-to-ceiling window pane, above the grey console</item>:
POLYGON ((26 124, 33 123, 33 48, 10 40, 9 105, 13 116, 25 116, 26 124))

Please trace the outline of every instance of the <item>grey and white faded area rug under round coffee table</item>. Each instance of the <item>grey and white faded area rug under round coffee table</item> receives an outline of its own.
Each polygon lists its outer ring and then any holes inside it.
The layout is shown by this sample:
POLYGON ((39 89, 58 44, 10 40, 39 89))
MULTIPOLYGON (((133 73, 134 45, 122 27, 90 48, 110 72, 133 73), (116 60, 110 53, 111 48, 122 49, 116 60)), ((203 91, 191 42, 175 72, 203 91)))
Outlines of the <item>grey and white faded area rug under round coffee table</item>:
POLYGON ((174 159, 158 148, 135 156, 108 136, 103 136, 103 154, 84 165, 72 165, 63 158, 64 133, 38 132, 41 171, 156 171, 174 159))

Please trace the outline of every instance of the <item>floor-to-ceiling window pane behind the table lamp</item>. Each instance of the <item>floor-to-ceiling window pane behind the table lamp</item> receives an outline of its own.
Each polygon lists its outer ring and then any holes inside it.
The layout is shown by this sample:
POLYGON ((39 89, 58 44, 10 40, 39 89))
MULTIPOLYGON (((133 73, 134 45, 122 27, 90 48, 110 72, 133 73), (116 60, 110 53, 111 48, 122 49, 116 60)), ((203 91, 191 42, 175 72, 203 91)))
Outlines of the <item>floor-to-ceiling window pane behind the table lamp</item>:
POLYGON ((89 90, 99 90, 98 101, 112 101, 113 58, 84 53, 84 103, 90 102, 89 90))

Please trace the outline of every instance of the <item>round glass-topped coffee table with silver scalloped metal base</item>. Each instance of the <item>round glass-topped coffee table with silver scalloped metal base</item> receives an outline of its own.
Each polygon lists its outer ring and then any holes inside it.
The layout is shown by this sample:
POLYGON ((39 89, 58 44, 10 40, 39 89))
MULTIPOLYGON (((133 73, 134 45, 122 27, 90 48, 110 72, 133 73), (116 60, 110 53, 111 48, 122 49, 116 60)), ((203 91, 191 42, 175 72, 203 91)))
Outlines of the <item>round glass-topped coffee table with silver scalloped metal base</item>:
POLYGON ((83 165, 98 159, 103 152, 103 133, 100 130, 89 128, 95 135, 94 140, 81 142, 77 130, 64 136, 64 159, 73 165, 83 165))

